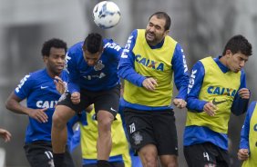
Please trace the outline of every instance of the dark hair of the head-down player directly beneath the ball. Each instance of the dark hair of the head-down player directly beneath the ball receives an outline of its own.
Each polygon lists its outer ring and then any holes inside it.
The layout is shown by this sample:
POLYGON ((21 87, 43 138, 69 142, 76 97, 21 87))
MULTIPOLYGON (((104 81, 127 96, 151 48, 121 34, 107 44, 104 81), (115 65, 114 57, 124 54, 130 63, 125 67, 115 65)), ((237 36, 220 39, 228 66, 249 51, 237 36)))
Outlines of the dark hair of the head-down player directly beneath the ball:
POLYGON ((96 54, 103 47, 103 38, 101 34, 91 33, 87 35, 87 38, 83 44, 83 50, 88 51, 91 54, 96 54))

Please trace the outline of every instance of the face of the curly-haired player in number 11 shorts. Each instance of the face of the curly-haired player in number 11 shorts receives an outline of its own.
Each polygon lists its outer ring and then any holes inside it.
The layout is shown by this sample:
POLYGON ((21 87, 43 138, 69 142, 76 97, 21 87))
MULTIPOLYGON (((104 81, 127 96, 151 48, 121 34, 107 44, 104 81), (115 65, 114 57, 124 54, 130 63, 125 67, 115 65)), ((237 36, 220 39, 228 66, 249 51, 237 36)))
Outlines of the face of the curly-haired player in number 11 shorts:
POLYGON ((51 47, 49 56, 44 56, 48 74, 52 77, 59 75, 65 67, 65 58, 65 49, 51 47))

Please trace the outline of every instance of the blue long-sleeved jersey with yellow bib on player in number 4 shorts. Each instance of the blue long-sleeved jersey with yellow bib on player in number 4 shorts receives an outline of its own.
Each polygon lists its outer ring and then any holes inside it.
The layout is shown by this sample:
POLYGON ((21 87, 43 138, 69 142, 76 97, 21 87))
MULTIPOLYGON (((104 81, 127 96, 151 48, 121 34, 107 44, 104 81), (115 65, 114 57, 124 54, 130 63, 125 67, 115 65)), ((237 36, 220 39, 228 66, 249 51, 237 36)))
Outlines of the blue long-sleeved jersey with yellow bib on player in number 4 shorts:
MULTIPOLYGON (((221 57, 221 56, 220 56, 221 57)), ((187 99, 187 123, 184 145, 212 142, 228 149, 228 122, 230 114, 240 115, 247 110, 249 100, 241 99, 237 91, 246 87, 245 74, 232 73, 219 58, 204 58, 191 70, 187 99), (205 103, 217 106, 215 116, 203 112, 205 103)))

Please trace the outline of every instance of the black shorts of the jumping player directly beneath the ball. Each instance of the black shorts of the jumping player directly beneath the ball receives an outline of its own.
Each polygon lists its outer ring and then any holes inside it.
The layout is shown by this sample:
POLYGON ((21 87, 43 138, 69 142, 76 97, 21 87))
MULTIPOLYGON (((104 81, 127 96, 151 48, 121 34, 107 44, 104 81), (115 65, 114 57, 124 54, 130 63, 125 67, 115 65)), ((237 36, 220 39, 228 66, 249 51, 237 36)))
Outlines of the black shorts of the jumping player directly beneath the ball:
POLYGON ((120 86, 119 84, 114 88, 111 88, 107 91, 91 92, 85 89, 80 90, 80 103, 74 104, 70 100, 70 93, 64 93, 57 105, 66 105, 76 113, 81 113, 85 110, 90 104, 94 103, 95 111, 98 113, 99 110, 105 110, 109 113, 112 113, 114 117, 118 112, 118 103, 119 103, 119 93, 120 86))

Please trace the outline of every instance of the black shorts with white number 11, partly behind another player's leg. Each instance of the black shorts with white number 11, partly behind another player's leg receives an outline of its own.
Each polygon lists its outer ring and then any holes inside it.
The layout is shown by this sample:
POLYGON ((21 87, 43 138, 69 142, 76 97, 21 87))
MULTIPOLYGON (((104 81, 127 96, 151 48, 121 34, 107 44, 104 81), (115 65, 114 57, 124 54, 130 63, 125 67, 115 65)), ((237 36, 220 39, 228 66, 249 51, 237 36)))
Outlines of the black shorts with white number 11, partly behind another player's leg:
MULTIPOLYGON (((26 159, 31 167, 53 167, 53 150, 50 142, 26 143, 24 146, 26 159)), ((65 152, 64 167, 75 167, 69 152, 65 152)))

